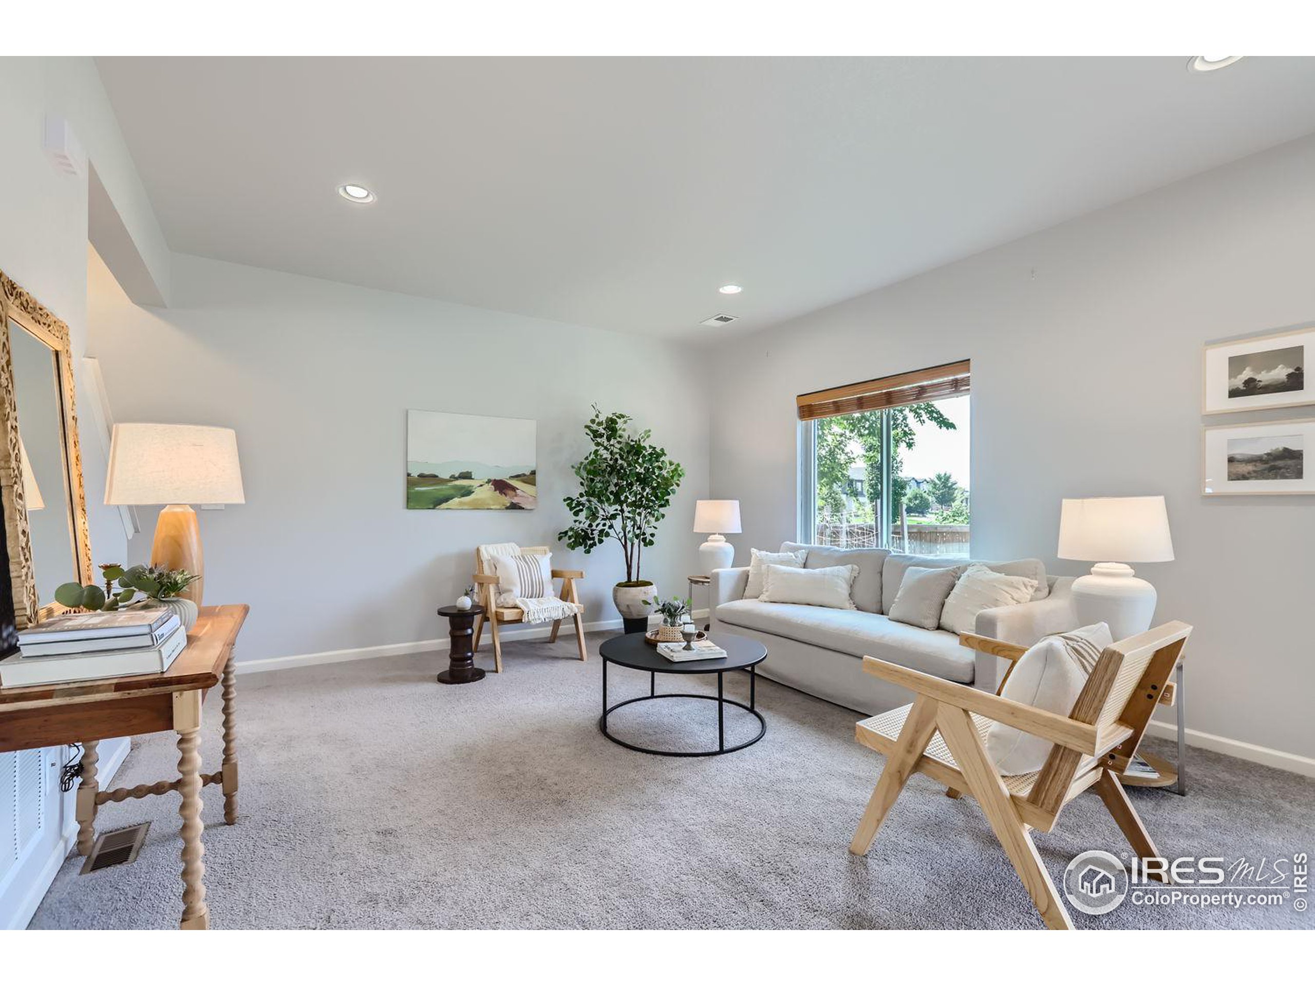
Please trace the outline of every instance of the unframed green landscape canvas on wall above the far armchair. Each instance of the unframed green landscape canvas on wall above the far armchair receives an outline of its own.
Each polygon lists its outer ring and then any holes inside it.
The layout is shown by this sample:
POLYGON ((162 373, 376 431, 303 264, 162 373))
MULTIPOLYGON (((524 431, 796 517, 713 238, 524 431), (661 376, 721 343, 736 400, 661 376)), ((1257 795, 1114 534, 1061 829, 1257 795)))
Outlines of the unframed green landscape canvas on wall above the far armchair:
POLYGON ((408 510, 533 510, 537 423, 406 411, 408 510))

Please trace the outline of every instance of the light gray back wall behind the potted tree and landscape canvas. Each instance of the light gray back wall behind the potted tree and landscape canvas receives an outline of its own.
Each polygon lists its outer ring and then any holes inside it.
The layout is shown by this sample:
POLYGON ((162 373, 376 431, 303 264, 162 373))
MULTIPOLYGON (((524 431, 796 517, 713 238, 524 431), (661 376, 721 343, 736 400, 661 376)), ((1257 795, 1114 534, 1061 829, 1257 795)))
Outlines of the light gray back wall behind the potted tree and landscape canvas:
MULTIPOLYGON (((572 555, 556 540, 594 402, 633 414, 685 467, 643 575, 664 594, 688 589, 709 406, 682 347, 181 255, 168 309, 134 306, 93 271, 91 326, 117 421, 237 429, 247 502, 199 515, 205 601, 251 605, 239 659, 446 635, 434 609, 489 542, 554 546, 555 564, 586 572, 586 619, 615 618, 619 548, 572 555), (408 408, 535 418, 539 507, 406 510, 408 408)), ((142 511, 147 532, 154 518, 142 511)), ((135 538, 134 560, 149 548, 135 538)))

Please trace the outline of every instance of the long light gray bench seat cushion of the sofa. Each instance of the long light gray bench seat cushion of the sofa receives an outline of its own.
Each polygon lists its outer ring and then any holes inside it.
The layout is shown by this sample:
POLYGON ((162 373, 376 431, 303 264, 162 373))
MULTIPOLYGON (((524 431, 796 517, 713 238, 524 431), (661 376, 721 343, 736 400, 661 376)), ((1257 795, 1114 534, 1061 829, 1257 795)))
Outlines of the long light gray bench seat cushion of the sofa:
MULTIPOLYGON (((717 619, 731 627, 775 634, 853 659, 871 655, 965 685, 970 685, 974 676, 974 655, 959 646, 957 636, 944 630, 922 630, 896 623, 880 613, 734 599, 717 607, 717 619)), ((713 634, 714 640, 715 638, 713 634)), ((771 644, 767 660, 772 660, 771 644)))

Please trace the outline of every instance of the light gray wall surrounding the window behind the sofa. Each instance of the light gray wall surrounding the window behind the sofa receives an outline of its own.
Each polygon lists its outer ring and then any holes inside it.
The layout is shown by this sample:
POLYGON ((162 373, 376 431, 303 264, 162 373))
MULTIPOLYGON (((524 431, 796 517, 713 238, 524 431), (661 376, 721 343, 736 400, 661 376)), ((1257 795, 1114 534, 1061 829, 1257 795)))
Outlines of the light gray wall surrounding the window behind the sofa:
MULTIPOLYGON (((1141 567, 1195 627, 1189 727, 1315 756, 1315 497, 1203 498, 1201 347, 1315 322, 1315 138, 721 346, 713 496, 796 532, 794 396, 970 358, 973 552, 1055 560, 1063 497, 1162 493, 1141 567)), ((1215 423, 1315 415, 1315 408, 1215 423)))

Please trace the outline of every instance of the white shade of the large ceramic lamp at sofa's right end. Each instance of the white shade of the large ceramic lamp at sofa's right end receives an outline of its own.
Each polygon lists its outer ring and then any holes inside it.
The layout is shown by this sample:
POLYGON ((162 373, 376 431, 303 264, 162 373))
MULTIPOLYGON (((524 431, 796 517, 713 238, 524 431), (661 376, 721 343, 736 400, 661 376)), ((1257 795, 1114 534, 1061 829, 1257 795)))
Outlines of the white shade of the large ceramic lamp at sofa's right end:
POLYGON ((1173 561, 1164 497, 1065 500, 1059 556, 1074 561, 1173 561))

